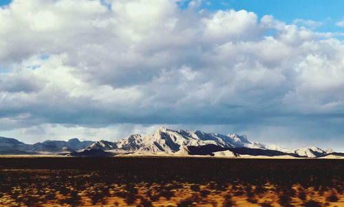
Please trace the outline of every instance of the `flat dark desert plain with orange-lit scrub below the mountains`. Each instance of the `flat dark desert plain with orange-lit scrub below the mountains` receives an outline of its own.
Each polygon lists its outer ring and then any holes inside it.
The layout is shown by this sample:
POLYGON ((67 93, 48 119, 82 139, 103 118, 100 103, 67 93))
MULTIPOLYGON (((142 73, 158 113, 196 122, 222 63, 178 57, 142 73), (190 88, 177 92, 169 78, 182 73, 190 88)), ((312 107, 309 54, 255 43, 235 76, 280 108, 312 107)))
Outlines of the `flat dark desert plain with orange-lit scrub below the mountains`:
POLYGON ((344 206, 344 160, 0 158, 0 206, 344 206))

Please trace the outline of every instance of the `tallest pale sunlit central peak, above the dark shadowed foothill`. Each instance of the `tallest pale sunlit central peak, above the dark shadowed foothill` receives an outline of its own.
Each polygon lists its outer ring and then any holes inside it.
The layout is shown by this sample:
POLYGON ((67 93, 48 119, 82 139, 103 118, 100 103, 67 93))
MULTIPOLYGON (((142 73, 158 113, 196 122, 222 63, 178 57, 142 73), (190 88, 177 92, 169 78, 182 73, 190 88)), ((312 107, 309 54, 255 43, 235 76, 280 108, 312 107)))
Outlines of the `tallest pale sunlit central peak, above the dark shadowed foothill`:
POLYGON ((265 149, 264 145, 250 141, 246 136, 237 134, 213 134, 200 131, 169 130, 160 127, 155 133, 142 136, 133 134, 116 143, 116 151, 136 154, 176 154, 188 155, 189 146, 217 145, 224 148, 250 147, 265 149))

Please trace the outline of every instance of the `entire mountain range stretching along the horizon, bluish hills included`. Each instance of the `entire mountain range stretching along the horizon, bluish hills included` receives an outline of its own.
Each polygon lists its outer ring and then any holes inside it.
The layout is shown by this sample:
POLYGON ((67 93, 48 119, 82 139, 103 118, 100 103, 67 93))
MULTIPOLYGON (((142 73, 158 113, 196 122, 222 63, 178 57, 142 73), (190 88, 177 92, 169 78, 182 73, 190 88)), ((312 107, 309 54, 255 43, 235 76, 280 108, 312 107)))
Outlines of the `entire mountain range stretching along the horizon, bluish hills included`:
POLYGON ((0 137, 0 154, 56 154, 65 156, 215 156, 241 158, 344 158, 332 149, 286 149, 264 145, 238 134, 169 130, 160 127, 148 135, 132 134, 119 141, 44 141, 33 145, 0 137))

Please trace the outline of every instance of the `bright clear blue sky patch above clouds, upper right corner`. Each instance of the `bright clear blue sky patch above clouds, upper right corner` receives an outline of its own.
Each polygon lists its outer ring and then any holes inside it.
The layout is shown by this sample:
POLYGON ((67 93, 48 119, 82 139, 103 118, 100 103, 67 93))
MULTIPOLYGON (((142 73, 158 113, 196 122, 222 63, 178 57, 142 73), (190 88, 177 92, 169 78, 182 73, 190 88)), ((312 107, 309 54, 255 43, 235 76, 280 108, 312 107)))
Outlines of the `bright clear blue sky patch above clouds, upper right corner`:
MULTIPOLYGON (((180 8, 188 8, 188 1, 178 3, 180 8)), ((202 1, 201 8, 210 11, 216 10, 246 10, 255 12, 260 19, 264 15, 272 15, 275 19, 288 24, 295 20, 312 20, 319 23, 313 28, 316 32, 343 32, 336 22, 344 20, 344 1, 342 0, 312 0, 312 1, 277 1, 277 0, 228 0, 228 1, 202 1)), ((298 24, 299 25, 299 24, 298 24)))

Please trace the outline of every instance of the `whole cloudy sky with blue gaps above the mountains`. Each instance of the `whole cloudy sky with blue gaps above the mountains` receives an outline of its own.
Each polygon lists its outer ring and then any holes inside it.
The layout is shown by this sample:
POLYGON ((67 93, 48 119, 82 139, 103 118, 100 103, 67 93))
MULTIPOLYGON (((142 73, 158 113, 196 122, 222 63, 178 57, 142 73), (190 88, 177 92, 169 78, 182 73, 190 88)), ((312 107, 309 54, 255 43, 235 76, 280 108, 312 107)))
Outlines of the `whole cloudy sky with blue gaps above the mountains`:
POLYGON ((0 5, 0 136, 165 126, 344 151, 344 1, 0 5))

